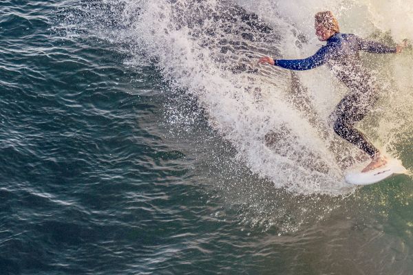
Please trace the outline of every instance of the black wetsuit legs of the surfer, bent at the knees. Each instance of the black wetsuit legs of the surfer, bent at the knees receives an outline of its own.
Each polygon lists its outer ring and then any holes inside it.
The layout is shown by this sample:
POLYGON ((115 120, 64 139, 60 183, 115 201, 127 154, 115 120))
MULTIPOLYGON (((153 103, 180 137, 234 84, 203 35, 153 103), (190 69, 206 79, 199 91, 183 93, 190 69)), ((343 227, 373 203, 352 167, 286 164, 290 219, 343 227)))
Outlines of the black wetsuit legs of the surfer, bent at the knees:
POLYGON ((374 157, 379 150, 368 142, 363 133, 354 128, 354 124, 364 118, 369 111, 368 105, 374 104, 375 100, 369 99, 369 102, 364 102, 366 104, 363 105, 359 104, 360 100, 358 96, 353 94, 346 96, 339 102, 335 111, 333 128, 337 135, 361 148, 370 157, 374 157))

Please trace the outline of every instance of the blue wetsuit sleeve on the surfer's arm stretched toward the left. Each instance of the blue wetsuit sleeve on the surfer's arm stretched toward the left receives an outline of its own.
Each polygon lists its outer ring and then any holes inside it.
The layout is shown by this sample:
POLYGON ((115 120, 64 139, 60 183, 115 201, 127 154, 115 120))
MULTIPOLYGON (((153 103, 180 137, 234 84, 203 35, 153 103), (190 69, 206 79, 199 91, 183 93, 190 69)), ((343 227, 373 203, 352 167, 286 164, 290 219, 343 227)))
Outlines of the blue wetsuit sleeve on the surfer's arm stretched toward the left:
POLYGON ((306 69, 313 69, 326 63, 329 56, 329 47, 321 47, 313 56, 305 59, 275 59, 274 65, 284 69, 293 69, 296 71, 304 71, 306 69))

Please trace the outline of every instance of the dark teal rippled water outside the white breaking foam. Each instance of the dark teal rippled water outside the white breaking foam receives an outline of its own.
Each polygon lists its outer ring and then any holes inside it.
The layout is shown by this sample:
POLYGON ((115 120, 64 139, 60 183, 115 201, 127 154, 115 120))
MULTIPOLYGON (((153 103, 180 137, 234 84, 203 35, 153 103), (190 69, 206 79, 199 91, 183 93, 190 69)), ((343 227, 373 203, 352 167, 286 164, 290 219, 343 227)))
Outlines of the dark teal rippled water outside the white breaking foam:
POLYGON ((328 195, 253 173, 116 40, 118 5, 0 3, 0 274, 411 274, 410 176, 328 195))

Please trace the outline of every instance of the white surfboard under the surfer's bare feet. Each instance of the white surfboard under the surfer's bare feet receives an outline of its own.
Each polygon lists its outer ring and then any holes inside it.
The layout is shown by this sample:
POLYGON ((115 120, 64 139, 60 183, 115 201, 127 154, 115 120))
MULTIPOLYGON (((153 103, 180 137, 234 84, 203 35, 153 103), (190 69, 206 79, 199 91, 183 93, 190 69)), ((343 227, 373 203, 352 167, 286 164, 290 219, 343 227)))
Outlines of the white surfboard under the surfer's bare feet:
POLYGON ((399 159, 388 159, 385 166, 377 169, 361 173, 360 170, 352 170, 346 174, 346 181, 354 185, 368 185, 375 184, 383 179, 386 179, 394 174, 405 174, 406 168, 403 167, 399 159))

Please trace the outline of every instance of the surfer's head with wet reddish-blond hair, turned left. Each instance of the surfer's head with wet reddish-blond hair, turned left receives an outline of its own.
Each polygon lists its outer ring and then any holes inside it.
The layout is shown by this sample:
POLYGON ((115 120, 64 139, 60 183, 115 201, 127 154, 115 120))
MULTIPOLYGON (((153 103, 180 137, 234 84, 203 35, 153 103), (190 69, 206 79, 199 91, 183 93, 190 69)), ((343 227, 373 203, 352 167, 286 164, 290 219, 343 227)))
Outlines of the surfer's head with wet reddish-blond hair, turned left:
POLYGON ((319 41, 326 41, 335 33, 340 32, 339 22, 330 11, 317 12, 314 26, 319 41))

